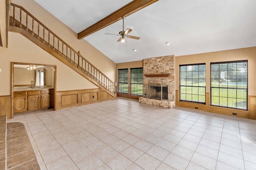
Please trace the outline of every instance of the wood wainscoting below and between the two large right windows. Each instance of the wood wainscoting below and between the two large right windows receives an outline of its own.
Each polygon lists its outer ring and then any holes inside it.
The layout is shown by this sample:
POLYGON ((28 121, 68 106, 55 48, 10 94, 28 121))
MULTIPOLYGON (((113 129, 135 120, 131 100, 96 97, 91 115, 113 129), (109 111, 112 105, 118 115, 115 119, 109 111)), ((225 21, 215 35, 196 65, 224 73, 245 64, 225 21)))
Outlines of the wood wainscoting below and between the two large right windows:
POLYGON ((179 101, 179 90, 176 90, 176 106, 186 107, 189 109, 208 111, 212 113, 220 113, 224 115, 230 115, 235 117, 242 117, 247 119, 256 119, 256 96, 248 96, 248 111, 240 109, 231 109, 226 107, 218 107, 210 105, 210 93, 206 93, 206 104, 197 104, 192 102, 179 101), (197 107, 197 109, 195 108, 197 107), (236 113, 237 115, 233 115, 236 113))

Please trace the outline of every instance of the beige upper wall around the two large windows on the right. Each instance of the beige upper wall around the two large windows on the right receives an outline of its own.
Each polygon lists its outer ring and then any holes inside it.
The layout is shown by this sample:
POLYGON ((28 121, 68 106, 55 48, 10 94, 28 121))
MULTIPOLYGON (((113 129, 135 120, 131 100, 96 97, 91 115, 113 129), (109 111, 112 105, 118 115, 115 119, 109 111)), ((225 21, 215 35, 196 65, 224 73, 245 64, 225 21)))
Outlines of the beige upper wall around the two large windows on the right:
POLYGON ((206 63, 206 92, 210 92, 210 63, 248 60, 248 95, 256 96, 256 47, 176 57, 176 90, 179 90, 179 65, 206 63))

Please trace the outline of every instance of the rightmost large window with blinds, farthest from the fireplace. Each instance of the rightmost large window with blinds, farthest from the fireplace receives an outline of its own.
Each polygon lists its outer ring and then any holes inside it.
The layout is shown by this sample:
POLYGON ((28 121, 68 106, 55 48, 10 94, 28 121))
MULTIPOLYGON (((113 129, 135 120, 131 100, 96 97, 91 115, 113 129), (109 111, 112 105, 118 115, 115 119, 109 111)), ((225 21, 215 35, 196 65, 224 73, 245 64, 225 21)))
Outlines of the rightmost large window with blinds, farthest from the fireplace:
POLYGON ((211 63, 211 105, 247 110, 248 61, 211 63))

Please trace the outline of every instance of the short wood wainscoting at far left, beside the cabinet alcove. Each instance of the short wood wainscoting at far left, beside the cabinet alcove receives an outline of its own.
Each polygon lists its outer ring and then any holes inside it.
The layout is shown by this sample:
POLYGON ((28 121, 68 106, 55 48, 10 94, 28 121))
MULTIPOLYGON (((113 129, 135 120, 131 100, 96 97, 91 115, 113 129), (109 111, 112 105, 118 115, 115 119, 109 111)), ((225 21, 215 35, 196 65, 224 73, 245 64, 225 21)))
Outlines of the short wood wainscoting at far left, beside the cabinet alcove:
POLYGON ((0 116, 6 115, 7 119, 11 118, 11 95, 0 96, 0 116))

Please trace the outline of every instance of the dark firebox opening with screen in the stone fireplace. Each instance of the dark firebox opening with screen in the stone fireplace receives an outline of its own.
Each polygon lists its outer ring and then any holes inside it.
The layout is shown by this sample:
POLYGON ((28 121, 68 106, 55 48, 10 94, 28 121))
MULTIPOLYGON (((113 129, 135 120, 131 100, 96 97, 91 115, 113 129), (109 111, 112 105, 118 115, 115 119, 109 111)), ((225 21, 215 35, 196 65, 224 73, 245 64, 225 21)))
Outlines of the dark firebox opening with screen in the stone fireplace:
POLYGON ((157 100, 168 100, 168 86, 150 86, 149 85, 149 98, 157 100))

